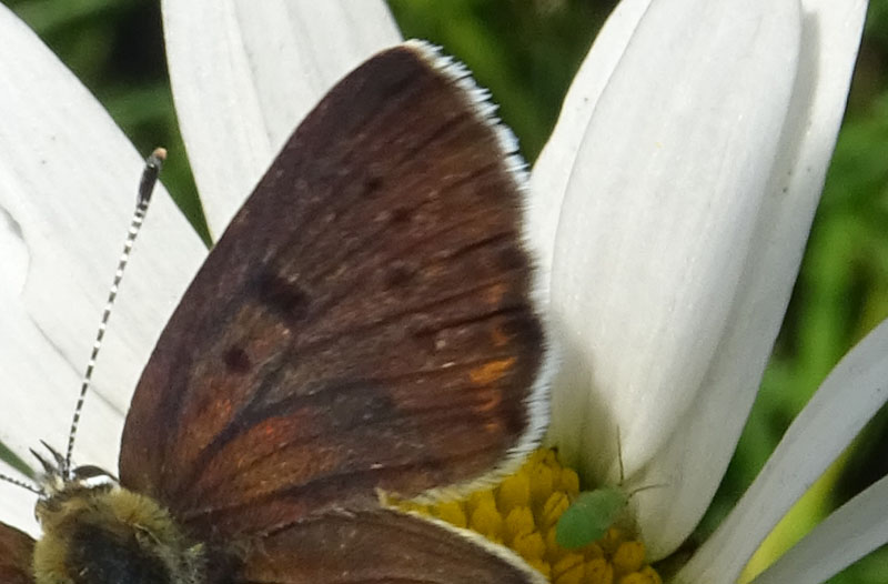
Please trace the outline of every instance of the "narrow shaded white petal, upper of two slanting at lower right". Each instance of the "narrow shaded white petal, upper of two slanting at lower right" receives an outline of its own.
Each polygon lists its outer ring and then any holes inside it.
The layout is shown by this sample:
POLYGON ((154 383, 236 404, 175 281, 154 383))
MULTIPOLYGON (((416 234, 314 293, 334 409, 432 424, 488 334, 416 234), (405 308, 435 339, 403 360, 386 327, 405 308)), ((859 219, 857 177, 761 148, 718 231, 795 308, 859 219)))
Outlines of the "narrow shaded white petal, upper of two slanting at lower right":
POLYGON ((770 530, 888 400, 886 380, 888 321, 836 365, 679 581, 734 582, 770 530))

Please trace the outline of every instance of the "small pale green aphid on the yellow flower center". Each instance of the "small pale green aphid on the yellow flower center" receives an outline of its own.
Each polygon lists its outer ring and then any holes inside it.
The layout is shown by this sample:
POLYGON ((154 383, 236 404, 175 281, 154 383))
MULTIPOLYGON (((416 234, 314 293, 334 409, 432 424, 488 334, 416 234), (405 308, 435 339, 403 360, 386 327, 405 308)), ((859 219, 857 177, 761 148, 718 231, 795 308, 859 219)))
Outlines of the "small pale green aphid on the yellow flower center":
POLYGON ((555 541, 575 550, 601 540, 628 504, 629 495, 617 486, 584 491, 558 520, 555 541))

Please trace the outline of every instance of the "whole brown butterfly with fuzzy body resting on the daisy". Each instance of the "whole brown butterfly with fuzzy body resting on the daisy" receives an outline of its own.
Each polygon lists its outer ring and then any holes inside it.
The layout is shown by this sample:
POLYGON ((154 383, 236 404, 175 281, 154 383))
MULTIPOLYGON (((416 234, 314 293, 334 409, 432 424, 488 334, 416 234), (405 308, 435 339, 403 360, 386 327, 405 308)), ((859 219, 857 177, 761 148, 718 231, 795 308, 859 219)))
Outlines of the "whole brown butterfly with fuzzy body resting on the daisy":
POLYGON ((0 524, 0 582, 542 582, 385 505, 488 483, 545 426, 523 177, 490 110, 416 41, 342 80, 163 331, 119 484, 47 463, 44 535, 0 524))

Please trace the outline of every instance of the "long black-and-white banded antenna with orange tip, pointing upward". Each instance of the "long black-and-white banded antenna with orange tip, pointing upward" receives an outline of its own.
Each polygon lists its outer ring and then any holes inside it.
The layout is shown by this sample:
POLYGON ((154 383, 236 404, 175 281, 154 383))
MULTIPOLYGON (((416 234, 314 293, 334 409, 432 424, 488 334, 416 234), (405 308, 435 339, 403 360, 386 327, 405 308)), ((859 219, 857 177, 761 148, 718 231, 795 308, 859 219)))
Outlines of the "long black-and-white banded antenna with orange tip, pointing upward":
POLYGON ((104 303, 102 311, 102 320, 99 323, 99 331, 95 334, 95 342, 92 343, 92 353, 90 360, 87 362, 87 371, 83 374, 83 381, 80 384, 80 396, 77 400, 74 407, 74 417, 71 421, 71 430, 68 433, 68 452, 64 455, 64 467, 62 472, 65 477, 70 476, 71 471, 71 454, 74 450, 74 439, 77 436, 77 426, 80 423, 80 412, 83 409, 83 400, 87 397, 90 383, 92 381, 92 371, 95 367, 95 358, 99 355, 99 350, 102 346, 102 339, 104 339, 104 331, 108 326, 108 320, 111 318, 111 308, 118 298, 118 286, 120 281, 123 280, 123 270, 127 269, 127 263, 130 261, 130 253, 135 238, 139 235, 139 230, 142 228, 142 222, 148 213, 148 205, 151 202, 151 193, 154 190, 154 184, 158 182, 160 169, 163 161, 167 160, 167 151, 162 148, 155 149, 150 157, 145 160, 145 168, 142 171, 142 179, 139 182, 139 199, 135 204, 135 212, 130 222, 130 230, 127 233, 127 241, 123 244, 123 253, 120 254, 118 261, 118 269, 114 272, 114 281, 111 283, 111 290, 108 292, 108 300, 104 303))

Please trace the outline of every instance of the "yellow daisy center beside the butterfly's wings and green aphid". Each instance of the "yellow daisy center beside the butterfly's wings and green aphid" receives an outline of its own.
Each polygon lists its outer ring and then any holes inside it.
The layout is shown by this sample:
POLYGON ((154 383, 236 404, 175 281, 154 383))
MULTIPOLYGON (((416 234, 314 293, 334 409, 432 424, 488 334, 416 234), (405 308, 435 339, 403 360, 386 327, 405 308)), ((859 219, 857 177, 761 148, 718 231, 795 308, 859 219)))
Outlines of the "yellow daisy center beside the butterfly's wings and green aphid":
POLYGON ((555 524, 578 493, 576 472, 564 467, 554 451, 541 449, 493 489, 460 501, 398 505, 511 547, 553 584, 660 584, 645 563, 644 544, 617 527, 578 550, 555 543, 555 524))

